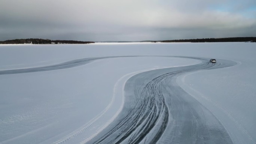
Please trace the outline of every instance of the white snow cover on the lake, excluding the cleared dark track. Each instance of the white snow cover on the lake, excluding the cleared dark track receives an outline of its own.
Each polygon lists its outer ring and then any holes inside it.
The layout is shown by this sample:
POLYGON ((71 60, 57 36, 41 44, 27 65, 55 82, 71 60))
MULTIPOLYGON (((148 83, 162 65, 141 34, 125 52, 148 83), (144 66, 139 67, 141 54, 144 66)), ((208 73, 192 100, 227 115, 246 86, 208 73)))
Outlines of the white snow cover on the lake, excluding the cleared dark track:
POLYGON ((89 142, 122 115, 130 77, 201 62, 165 56, 236 62, 228 68, 188 72, 176 82, 219 120, 233 143, 256 144, 255 48, 256 43, 0 45, 0 74, 48 69, 0 75, 0 144, 89 142), (96 57, 101 59, 76 67, 48 67, 96 57))

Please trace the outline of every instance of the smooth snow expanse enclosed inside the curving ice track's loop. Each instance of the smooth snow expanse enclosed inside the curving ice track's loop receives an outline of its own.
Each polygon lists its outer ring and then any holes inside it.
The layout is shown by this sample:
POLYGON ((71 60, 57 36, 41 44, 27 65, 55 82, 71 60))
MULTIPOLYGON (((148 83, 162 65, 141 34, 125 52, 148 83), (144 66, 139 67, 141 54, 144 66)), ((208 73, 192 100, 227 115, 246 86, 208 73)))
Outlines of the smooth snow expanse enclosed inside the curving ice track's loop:
POLYGON ((120 77, 185 64, 180 58, 112 58, 63 70, 1 75, 1 97, 6 102, 1 109, 1 143, 85 143, 121 110, 120 77), (164 59, 168 62, 162 63, 164 59), (26 119, 16 117, 27 113, 26 119))

